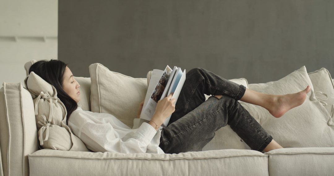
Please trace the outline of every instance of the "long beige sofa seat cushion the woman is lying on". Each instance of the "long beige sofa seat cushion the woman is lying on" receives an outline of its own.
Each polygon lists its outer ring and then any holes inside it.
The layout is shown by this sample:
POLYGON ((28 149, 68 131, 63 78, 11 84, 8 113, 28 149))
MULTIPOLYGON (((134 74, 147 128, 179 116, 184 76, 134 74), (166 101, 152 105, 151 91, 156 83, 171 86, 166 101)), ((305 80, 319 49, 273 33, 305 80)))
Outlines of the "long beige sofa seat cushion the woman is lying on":
POLYGON ((123 154, 43 149, 28 158, 30 175, 268 175, 268 155, 254 150, 123 154))

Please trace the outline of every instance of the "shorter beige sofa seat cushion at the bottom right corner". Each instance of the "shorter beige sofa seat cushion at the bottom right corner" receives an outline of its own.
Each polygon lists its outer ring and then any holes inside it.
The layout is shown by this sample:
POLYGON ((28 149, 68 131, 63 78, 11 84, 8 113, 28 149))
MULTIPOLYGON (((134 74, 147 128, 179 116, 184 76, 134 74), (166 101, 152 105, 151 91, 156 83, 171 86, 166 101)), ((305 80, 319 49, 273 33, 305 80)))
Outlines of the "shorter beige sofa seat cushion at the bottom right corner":
POLYGON ((334 147, 283 148, 266 152, 270 176, 333 175, 334 147))

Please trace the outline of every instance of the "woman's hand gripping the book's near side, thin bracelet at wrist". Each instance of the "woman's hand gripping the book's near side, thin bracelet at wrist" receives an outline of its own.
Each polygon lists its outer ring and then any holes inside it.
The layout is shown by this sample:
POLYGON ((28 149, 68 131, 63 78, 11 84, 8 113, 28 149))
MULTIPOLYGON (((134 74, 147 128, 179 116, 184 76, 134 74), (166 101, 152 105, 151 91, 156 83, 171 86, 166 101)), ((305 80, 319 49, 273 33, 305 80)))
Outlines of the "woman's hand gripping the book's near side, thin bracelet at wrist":
POLYGON ((174 93, 171 93, 164 99, 158 101, 153 116, 155 115, 158 116, 161 122, 164 122, 175 111, 174 103, 176 99, 175 98, 171 99, 173 94, 174 93))

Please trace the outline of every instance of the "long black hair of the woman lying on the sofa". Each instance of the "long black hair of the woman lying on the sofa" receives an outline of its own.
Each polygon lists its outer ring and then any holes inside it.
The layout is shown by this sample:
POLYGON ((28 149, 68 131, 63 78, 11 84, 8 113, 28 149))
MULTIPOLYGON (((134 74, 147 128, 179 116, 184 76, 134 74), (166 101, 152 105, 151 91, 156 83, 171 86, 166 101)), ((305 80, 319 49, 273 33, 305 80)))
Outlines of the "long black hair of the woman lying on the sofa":
POLYGON ((57 97, 65 105, 67 111, 66 125, 69 116, 78 107, 75 100, 63 90, 63 76, 67 65, 60 60, 40 60, 32 64, 28 72, 30 74, 33 71, 57 90, 57 97))

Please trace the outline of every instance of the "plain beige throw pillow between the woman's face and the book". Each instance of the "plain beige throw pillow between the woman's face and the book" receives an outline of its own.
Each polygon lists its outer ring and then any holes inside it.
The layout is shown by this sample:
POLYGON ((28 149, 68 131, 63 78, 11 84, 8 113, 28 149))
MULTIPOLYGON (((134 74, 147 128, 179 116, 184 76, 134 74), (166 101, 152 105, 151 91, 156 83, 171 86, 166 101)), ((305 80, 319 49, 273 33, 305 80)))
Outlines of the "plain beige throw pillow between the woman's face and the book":
POLYGON ((145 99, 147 79, 110 71, 100 63, 91 64, 89 71, 92 112, 112 114, 132 128, 138 105, 145 99))

